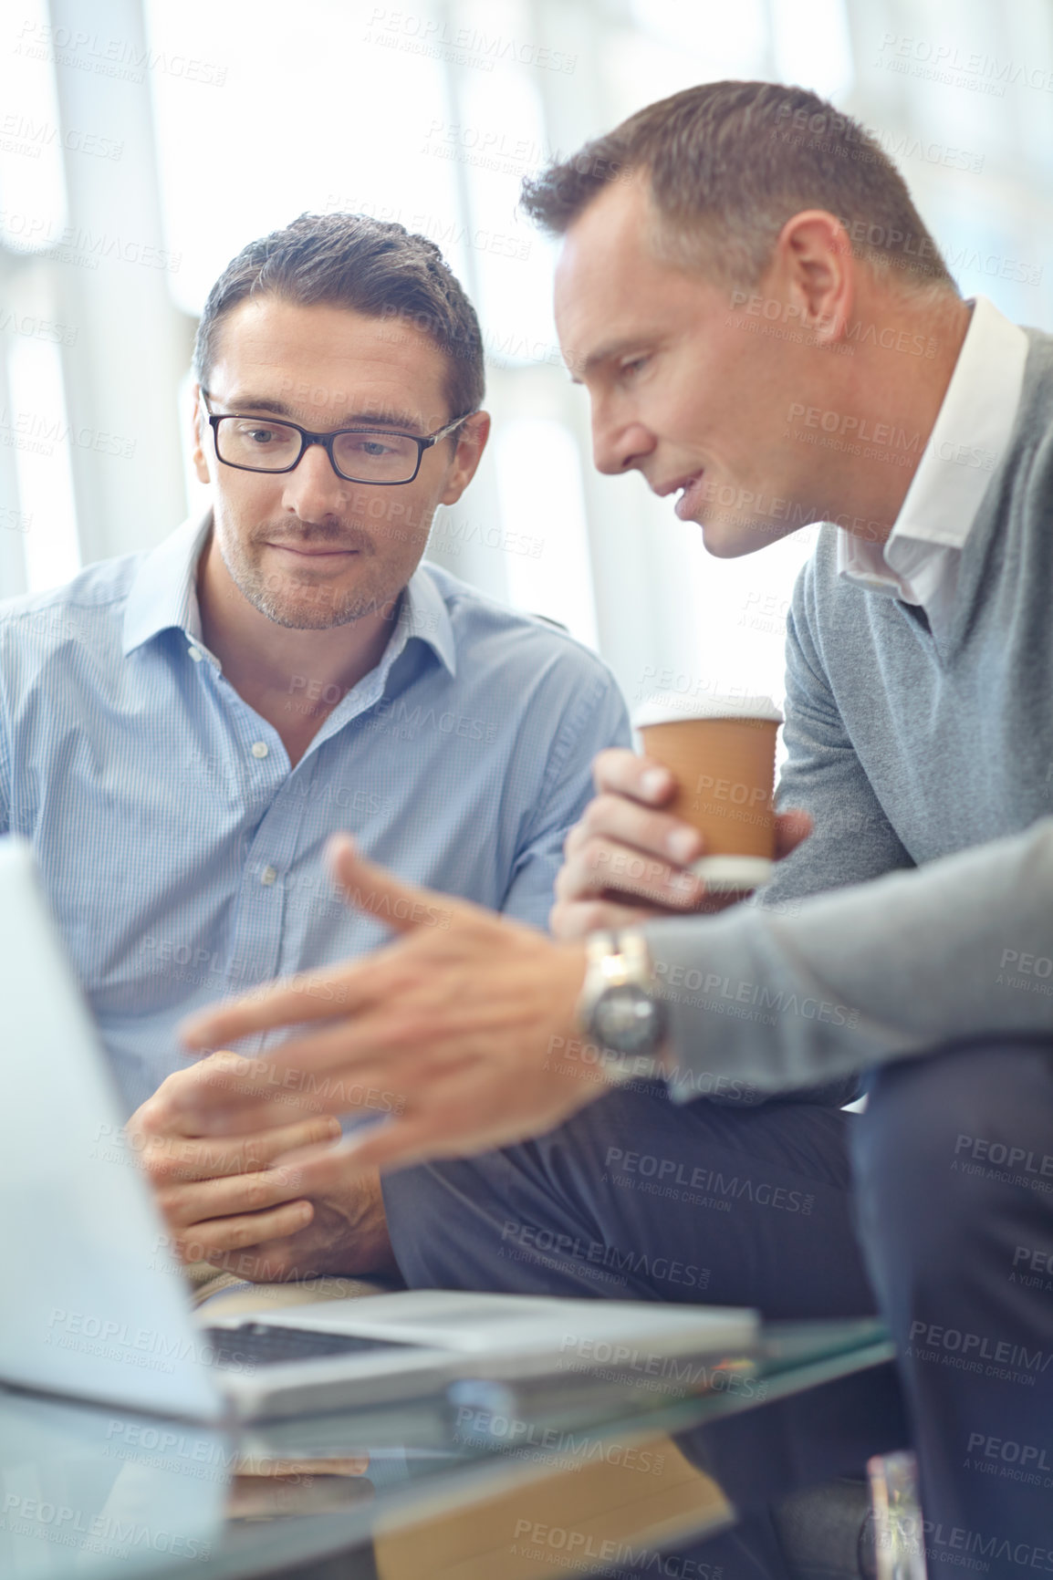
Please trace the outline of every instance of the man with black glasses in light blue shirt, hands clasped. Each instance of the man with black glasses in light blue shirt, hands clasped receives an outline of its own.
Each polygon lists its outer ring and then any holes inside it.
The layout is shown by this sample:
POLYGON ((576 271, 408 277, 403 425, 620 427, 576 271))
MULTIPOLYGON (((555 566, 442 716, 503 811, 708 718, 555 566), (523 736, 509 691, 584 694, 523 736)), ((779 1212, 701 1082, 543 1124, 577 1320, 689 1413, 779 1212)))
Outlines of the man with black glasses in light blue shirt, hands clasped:
MULTIPOLYGON (((383 1270, 375 1180, 307 1199, 267 1168, 335 1122, 281 1101, 231 1141, 164 1122, 157 1087, 213 1073, 176 1022, 383 939, 334 894, 335 830, 542 927, 625 705, 569 637, 421 564, 490 427, 476 314, 432 242, 343 213, 253 242, 209 295, 194 371, 206 518, 3 611, 0 831, 35 845, 185 1258, 383 1270)), ((386 1082, 343 1095, 359 1117, 397 1106, 386 1082)))

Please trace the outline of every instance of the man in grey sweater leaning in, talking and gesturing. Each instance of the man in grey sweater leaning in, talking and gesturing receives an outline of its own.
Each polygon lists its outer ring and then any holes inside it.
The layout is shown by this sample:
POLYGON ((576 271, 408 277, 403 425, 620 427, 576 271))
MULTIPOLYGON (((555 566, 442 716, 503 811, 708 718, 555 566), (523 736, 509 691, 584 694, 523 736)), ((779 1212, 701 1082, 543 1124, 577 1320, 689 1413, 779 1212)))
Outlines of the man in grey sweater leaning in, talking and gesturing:
MULTIPOLYGON (((1053 341, 960 299, 878 144, 803 90, 691 88, 526 204, 564 239, 557 316, 598 466, 680 490, 721 556, 828 523, 787 629, 779 785, 814 831, 764 904, 686 916, 700 842, 662 812, 669 777, 604 754, 557 891, 569 942, 459 907, 441 937, 406 929, 342 970, 348 1021, 278 1062, 405 1092, 354 1166, 504 1147, 387 1182, 410 1281, 468 1280, 465 1243, 500 1242, 501 1286, 528 1288, 547 1236, 553 1288, 579 1292, 610 1247, 680 1247, 686 1285, 699 1237, 724 1232, 767 1308, 805 1204, 775 1185, 721 1231, 726 1182, 612 1131, 610 1084, 659 1078, 702 1147, 757 1127, 765 1095, 870 1071, 860 1236, 900 1345, 930 1572, 1053 1572, 1053 341), (738 1111, 715 1108, 727 1097, 738 1111)), ((368 904, 421 901, 351 848, 337 861, 368 904)), ((194 1024, 194 1043, 321 1018, 304 986, 194 1024)), ((699 1297, 648 1277, 655 1297, 699 1297)))

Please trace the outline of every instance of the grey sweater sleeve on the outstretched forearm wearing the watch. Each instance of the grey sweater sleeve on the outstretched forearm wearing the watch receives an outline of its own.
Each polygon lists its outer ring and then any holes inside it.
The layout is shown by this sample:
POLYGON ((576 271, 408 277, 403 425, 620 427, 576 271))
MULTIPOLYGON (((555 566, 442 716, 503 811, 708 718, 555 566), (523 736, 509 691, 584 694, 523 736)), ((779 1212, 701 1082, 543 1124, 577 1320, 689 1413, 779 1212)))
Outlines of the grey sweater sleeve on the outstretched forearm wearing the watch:
POLYGON ((911 872, 645 927, 669 1006, 670 1089, 759 1093, 960 1038, 1053 1038, 1053 817, 911 872))

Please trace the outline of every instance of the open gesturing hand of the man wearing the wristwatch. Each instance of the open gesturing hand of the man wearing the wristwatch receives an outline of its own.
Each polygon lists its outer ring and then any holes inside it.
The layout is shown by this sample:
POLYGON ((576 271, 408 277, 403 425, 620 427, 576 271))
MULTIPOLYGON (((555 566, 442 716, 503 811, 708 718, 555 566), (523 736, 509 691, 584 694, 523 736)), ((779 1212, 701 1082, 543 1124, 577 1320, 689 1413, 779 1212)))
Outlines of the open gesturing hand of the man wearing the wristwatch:
POLYGON ((596 1065, 563 1057, 577 1038, 582 945, 411 888, 345 836, 332 856, 349 904, 403 937, 185 1022, 193 1049, 323 1022, 180 1092, 190 1128, 258 1130, 278 1093, 286 1114, 372 1106, 389 1117, 351 1138, 348 1163, 403 1166, 541 1134, 607 1090, 596 1065))

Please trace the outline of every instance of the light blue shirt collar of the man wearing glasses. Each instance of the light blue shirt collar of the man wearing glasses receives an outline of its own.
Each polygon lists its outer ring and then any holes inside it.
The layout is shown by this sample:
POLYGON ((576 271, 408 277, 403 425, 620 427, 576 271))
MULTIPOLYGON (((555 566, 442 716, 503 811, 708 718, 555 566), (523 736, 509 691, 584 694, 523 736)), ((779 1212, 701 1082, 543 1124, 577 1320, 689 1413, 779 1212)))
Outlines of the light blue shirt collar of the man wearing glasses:
MULTIPOLYGON (((144 556, 125 605, 125 656, 172 629, 193 637, 194 645, 202 648, 196 577, 210 531, 212 510, 207 510, 204 517, 190 517, 144 556)), ((446 600, 424 564, 417 566, 406 583, 398 621, 378 664, 384 676, 411 637, 427 643, 451 676, 457 675, 454 624, 446 600)))

